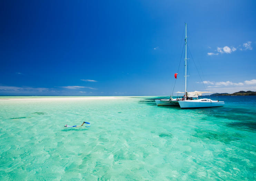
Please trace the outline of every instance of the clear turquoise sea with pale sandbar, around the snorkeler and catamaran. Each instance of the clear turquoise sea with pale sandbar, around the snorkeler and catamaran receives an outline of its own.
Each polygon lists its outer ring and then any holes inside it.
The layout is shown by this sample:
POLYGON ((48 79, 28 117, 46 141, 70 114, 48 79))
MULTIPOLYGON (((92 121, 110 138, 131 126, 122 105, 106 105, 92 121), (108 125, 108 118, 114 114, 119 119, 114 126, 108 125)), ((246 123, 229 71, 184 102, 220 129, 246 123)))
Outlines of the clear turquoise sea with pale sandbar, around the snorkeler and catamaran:
POLYGON ((0 180, 256 180, 256 96, 156 98, 0 97, 0 180))

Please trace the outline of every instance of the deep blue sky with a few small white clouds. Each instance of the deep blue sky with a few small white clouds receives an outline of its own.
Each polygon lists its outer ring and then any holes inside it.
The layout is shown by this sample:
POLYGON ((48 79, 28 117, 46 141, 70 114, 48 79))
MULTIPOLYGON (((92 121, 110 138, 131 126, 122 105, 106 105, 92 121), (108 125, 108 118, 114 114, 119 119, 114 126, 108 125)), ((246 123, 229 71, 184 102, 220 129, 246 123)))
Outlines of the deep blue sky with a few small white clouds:
POLYGON ((2 1, 0 95, 256 91, 256 1, 2 1), (189 58, 192 58, 189 55, 189 58), (181 60, 174 91, 184 91, 181 60))

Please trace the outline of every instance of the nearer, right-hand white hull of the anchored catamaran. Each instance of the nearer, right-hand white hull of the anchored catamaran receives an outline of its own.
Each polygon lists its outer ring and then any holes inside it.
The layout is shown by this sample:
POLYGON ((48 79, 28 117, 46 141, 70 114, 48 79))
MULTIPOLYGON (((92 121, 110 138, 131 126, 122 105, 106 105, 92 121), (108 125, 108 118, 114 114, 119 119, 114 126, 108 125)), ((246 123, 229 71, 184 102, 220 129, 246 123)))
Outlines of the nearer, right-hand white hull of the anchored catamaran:
POLYGON ((224 106, 223 101, 178 101, 180 108, 206 108, 224 106))

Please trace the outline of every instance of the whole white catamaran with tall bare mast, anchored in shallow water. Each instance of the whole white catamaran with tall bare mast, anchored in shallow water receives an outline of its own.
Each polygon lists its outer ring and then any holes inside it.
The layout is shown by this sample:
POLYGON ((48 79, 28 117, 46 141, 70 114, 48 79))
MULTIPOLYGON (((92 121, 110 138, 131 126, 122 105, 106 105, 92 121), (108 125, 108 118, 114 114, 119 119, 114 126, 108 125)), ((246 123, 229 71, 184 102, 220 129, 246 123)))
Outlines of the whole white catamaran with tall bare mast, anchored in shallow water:
MULTIPOLYGON (((201 96, 203 93, 210 93, 207 91, 194 91, 187 92, 187 23, 185 23, 185 92, 176 92, 183 93, 183 98, 173 99, 170 96, 169 99, 160 99, 155 100, 157 105, 179 105, 180 108, 204 108, 204 107, 219 107, 223 106, 223 101, 215 101, 211 99, 198 99, 198 96, 201 96)), ((177 73, 175 74, 177 78, 177 73)))

